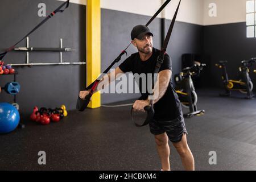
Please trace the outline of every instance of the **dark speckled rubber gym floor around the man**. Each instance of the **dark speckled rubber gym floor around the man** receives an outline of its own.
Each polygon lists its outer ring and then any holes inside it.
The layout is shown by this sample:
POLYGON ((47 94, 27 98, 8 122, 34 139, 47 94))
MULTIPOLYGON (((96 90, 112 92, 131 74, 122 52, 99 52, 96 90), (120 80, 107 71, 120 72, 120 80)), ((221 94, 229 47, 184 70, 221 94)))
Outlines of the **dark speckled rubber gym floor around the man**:
MULTIPOLYGON (((220 90, 197 90, 205 114, 185 119, 196 170, 256 169, 256 101, 243 95, 218 96, 220 90), (217 164, 209 164, 209 152, 217 164)), ((115 104, 127 104, 131 101, 115 104)), ((112 104, 113 105, 113 104, 112 104)), ((184 109, 184 108, 183 108, 184 109)), ((184 113, 187 110, 184 109, 184 113)), ((59 123, 38 125, 23 116, 25 129, 1 135, 1 170, 159 170, 160 160, 149 127, 137 128, 130 106, 69 111, 59 123), (38 152, 46 152, 46 165, 38 152)), ((171 169, 183 170, 171 147, 171 169)))

